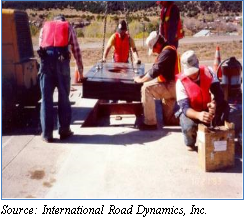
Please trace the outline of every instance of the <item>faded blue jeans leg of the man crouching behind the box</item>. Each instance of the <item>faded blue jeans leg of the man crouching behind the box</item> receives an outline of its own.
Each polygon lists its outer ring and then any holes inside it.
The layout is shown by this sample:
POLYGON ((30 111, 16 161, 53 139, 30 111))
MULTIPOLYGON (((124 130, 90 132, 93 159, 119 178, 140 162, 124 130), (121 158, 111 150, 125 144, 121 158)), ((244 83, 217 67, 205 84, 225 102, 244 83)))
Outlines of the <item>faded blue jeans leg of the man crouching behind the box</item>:
POLYGON ((186 117, 184 113, 181 113, 180 125, 184 136, 185 145, 195 145, 197 139, 198 122, 186 117))

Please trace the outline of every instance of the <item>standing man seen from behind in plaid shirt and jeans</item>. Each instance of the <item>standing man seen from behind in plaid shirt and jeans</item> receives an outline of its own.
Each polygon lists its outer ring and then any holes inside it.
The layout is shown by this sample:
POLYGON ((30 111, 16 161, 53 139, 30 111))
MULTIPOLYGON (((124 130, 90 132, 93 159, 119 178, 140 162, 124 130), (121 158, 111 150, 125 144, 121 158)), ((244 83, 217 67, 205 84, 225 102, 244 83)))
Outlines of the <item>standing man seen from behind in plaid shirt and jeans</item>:
POLYGON ((52 142, 54 129, 53 93, 56 87, 58 89, 60 139, 68 138, 73 134, 70 130, 70 49, 75 57, 80 78, 83 78, 83 64, 75 31, 62 15, 55 17, 53 21, 44 23, 40 32, 39 46, 42 139, 45 142, 52 142))

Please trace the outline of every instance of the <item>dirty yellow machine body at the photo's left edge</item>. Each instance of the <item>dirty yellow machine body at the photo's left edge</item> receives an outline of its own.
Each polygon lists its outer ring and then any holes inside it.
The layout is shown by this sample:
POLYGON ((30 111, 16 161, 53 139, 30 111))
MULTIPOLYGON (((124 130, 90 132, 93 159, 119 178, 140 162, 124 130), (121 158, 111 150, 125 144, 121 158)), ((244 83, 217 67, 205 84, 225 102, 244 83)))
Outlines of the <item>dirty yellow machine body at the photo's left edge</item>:
POLYGON ((27 13, 2 9, 3 117, 16 104, 40 99, 37 74, 27 13))

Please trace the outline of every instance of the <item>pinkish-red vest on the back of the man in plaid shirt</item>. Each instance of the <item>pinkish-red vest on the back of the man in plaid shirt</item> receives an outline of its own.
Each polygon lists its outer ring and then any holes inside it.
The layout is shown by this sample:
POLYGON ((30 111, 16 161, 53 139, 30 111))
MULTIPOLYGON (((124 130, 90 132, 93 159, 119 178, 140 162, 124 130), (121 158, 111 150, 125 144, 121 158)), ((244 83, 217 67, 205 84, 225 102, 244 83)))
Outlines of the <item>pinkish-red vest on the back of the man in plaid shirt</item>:
POLYGON ((42 30, 41 47, 65 47, 69 42, 69 23, 67 21, 47 21, 42 30))

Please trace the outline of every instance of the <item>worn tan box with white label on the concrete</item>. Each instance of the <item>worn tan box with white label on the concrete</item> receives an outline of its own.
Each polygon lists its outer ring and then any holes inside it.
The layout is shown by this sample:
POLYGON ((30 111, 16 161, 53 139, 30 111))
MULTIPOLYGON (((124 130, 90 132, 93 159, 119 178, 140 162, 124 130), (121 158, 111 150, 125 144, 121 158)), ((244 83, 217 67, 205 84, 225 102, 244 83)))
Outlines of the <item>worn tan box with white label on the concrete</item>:
POLYGON ((235 127, 225 122, 225 126, 208 128, 198 125, 197 145, 199 164, 205 171, 215 171, 235 164, 235 127))

